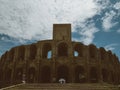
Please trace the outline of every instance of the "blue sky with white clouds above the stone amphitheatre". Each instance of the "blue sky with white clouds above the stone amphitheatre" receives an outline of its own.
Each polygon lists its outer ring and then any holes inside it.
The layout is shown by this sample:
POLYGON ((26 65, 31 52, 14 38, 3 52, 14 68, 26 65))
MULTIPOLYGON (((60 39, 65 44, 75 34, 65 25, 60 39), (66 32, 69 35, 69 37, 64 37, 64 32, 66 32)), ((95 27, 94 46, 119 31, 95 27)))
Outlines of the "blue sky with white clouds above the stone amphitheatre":
POLYGON ((0 55, 52 39, 54 23, 71 23, 72 40, 120 58, 120 0, 0 0, 0 55))

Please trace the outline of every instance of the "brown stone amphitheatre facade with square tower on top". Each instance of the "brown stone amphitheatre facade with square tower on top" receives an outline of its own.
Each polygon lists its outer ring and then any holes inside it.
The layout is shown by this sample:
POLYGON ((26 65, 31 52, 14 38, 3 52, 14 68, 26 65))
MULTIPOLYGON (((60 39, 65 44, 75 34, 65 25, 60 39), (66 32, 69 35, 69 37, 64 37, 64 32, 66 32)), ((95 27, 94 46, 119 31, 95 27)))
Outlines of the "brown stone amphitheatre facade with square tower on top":
POLYGON ((118 57, 103 47, 71 41, 71 24, 54 24, 53 40, 14 47, 0 60, 0 82, 120 83, 118 57))

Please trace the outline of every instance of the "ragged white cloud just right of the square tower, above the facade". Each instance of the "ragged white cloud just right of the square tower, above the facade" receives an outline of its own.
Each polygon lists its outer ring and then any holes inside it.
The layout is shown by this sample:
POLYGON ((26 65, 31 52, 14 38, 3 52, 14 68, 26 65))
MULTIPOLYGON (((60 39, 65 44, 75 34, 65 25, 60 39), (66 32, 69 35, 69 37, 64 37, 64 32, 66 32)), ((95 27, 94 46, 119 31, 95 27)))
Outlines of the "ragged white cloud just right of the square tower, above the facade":
MULTIPOLYGON (((80 34, 81 38, 77 41, 83 42, 85 45, 91 44, 94 39, 94 34, 99 30, 95 27, 93 22, 80 23, 80 29, 77 32, 80 34)), ((76 40, 76 39, 74 39, 76 40)))

